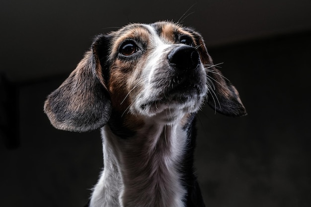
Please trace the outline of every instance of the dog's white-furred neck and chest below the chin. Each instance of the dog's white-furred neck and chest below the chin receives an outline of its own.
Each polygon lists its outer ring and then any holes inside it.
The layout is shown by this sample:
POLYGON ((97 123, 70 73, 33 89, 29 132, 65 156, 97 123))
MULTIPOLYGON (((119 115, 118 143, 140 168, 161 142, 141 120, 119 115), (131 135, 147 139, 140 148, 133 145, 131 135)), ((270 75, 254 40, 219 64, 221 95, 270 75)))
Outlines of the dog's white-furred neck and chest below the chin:
POLYGON ((148 123, 131 138, 117 137, 108 126, 102 133, 104 171, 91 207, 184 206, 180 166, 187 133, 181 124, 148 123))

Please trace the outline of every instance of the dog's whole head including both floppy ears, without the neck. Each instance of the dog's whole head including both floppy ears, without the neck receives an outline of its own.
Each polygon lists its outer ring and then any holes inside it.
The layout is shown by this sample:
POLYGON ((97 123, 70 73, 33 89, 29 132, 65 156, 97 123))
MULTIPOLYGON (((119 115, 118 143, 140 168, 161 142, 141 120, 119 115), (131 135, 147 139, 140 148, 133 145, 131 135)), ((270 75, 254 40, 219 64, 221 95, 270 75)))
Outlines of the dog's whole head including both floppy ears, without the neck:
POLYGON ((109 120, 173 123, 199 110, 243 116, 235 87, 213 66, 199 33, 172 22, 130 24, 95 38, 44 106, 58 129, 90 131, 109 120))

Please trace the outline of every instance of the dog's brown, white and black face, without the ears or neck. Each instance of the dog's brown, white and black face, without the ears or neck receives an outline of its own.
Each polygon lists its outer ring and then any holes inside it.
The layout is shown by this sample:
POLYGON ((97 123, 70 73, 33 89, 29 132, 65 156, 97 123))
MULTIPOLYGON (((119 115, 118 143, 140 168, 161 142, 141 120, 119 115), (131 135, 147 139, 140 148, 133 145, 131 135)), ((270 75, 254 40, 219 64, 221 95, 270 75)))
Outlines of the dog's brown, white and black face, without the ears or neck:
POLYGON ((198 110, 206 72, 190 30, 160 22, 111 33, 107 87, 112 107, 126 116, 172 122, 198 110))

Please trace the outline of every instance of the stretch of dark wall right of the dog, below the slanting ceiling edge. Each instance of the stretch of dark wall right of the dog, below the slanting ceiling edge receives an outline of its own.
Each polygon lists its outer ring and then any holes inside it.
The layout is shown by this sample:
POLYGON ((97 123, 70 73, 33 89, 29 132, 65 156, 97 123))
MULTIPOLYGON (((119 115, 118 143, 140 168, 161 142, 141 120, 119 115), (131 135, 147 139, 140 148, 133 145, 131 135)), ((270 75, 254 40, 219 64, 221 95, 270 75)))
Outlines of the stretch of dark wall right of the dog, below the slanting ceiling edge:
POLYGON ((214 48, 210 54, 215 63, 224 62, 222 71, 248 115, 213 116, 206 107, 199 116, 198 127, 208 135, 198 140, 206 203, 311 206, 311 33, 214 48))

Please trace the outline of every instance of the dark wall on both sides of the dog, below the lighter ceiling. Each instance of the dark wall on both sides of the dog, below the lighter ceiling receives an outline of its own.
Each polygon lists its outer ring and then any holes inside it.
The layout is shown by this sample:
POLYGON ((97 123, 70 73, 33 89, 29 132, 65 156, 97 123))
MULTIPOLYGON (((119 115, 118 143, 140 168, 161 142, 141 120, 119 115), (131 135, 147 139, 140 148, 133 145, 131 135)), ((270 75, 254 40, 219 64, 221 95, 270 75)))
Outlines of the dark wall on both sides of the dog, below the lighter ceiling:
MULTIPOLYGON (((210 49, 248 115, 205 106, 196 166, 207 206, 311 206, 311 33, 210 49)), ((0 207, 81 207, 102 167, 99 132, 50 125, 45 97, 64 77, 21 85, 20 146, 0 142, 0 207)))

